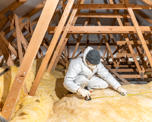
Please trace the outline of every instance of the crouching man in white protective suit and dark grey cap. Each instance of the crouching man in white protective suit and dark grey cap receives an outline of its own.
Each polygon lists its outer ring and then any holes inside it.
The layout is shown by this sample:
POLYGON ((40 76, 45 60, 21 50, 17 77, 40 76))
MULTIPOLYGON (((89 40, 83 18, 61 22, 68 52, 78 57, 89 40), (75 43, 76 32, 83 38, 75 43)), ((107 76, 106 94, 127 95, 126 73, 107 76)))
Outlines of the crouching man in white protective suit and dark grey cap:
POLYGON ((90 89, 104 89, 110 85, 121 95, 127 95, 127 91, 104 67, 100 58, 96 49, 87 47, 82 57, 71 60, 64 87, 72 93, 90 97, 90 89))

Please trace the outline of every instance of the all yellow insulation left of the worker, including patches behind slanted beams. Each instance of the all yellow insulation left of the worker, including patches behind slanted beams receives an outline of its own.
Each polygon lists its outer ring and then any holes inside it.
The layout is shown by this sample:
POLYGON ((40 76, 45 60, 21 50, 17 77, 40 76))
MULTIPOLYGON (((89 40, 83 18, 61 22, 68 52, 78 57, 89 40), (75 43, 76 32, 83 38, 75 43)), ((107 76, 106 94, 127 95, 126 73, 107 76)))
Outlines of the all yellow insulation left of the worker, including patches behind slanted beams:
MULTIPOLYGON (((3 68, 0 71, 3 71, 3 68)), ((4 103, 17 71, 18 68, 12 66, 10 67, 10 71, 0 76, 1 103, 4 103)), ((36 64, 34 63, 25 78, 25 86, 28 91, 34 80, 35 72, 36 64)), ((45 73, 40 82, 36 96, 34 97, 26 95, 24 90, 21 90, 19 101, 10 122, 45 122, 49 114, 52 114, 53 102, 59 99, 55 95, 56 78, 50 73, 45 73)))

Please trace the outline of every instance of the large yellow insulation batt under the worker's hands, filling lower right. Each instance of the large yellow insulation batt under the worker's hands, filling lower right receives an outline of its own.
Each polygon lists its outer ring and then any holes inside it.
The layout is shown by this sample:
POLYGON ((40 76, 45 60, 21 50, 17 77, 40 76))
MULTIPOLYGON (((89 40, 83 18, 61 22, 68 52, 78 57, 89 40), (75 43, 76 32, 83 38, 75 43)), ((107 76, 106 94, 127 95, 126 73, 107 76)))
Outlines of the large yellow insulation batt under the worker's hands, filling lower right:
POLYGON ((63 97, 47 122, 152 122, 152 82, 123 87, 128 96, 104 89, 94 90, 91 101, 73 94, 63 97))

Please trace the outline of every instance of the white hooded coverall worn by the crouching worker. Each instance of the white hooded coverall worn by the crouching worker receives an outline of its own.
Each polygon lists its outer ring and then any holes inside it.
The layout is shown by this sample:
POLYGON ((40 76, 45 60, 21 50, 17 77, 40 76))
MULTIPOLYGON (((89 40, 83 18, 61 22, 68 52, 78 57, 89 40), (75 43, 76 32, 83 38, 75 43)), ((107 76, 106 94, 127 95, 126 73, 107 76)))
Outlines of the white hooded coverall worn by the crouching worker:
POLYGON ((76 93, 80 87, 84 88, 86 86, 89 89, 103 89, 110 85, 117 90, 121 85, 101 62, 93 70, 89 68, 86 63, 86 55, 90 50, 93 50, 93 48, 87 47, 82 57, 70 62, 64 78, 64 87, 73 93, 76 93))

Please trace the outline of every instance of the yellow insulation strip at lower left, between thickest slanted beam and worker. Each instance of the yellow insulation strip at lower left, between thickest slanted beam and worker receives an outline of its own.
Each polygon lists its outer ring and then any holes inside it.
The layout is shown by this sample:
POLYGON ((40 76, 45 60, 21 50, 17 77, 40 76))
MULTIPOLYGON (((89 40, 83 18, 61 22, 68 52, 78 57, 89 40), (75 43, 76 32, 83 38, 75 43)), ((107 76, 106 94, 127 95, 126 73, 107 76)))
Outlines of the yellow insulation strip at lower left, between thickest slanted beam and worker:
POLYGON ((52 115, 55 95, 56 78, 50 73, 44 73, 36 91, 36 96, 26 96, 19 100, 17 111, 11 122, 45 122, 52 115))

